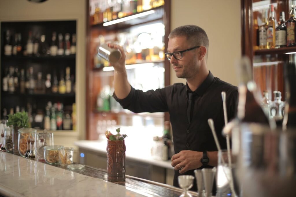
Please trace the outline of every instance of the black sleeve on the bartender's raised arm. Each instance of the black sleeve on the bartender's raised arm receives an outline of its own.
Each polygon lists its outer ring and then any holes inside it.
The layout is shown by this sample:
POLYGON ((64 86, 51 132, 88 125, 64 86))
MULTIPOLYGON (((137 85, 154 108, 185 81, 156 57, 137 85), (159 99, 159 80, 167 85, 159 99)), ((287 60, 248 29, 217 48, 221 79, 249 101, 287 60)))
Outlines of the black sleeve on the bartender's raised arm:
POLYGON ((120 103, 123 109, 128 109, 134 113, 167 112, 167 88, 169 87, 143 92, 131 87, 131 91, 126 98, 118 99, 115 93, 113 97, 120 103))

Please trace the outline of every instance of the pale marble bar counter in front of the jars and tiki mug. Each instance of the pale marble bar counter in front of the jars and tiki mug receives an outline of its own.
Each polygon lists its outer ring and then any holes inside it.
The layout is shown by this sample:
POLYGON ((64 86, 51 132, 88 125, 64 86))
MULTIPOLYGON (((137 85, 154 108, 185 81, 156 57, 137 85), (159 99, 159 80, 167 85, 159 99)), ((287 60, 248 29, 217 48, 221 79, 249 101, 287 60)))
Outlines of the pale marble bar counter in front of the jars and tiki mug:
MULTIPOLYGON (((126 177, 108 182, 104 170, 67 170, 0 152, 0 196, 180 196, 182 190, 126 177)), ((193 196, 197 193, 191 192, 193 196)))

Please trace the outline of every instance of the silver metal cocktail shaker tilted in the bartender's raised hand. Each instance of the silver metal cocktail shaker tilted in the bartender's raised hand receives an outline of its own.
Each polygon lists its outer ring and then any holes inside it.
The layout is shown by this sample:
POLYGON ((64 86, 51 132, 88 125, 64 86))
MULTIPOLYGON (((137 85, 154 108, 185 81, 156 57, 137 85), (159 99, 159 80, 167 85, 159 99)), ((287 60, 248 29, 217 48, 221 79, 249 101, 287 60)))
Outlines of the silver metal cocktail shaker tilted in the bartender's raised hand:
POLYGON ((99 46, 98 55, 106 59, 110 64, 117 62, 121 58, 119 49, 111 49, 106 43, 99 46))

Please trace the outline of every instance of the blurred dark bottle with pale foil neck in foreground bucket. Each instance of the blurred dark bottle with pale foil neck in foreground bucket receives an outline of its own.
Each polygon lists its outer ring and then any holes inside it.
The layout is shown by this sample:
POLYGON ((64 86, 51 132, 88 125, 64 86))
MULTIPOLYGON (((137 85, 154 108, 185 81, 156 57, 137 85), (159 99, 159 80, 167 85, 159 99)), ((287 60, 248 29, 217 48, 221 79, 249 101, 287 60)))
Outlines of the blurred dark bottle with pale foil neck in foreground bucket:
POLYGON ((242 57, 238 64, 240 79, 237 117, 241 122, 256 122, 269 124, 269 119, 256 99, 257 85, 253 81, 251 62, 248 57, 242 57))

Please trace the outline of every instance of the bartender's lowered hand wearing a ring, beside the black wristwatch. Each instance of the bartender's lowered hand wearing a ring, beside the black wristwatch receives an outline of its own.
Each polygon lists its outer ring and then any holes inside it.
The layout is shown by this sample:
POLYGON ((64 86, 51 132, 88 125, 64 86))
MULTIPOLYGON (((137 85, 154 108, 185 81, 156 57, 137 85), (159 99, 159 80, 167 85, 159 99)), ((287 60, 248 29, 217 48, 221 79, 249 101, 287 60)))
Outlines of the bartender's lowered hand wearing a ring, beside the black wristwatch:
POLYGON ((191 169, 197 169, 202 166, 200 159, 202 152, 198 151, 180 151, 172 156, 172 166, 175 170, 179 170, 183 174, 191 169))

